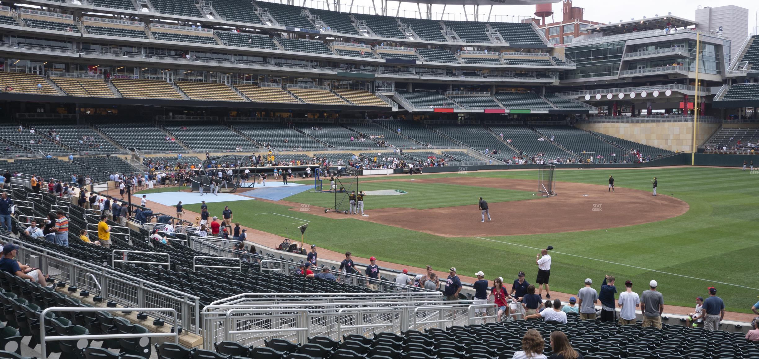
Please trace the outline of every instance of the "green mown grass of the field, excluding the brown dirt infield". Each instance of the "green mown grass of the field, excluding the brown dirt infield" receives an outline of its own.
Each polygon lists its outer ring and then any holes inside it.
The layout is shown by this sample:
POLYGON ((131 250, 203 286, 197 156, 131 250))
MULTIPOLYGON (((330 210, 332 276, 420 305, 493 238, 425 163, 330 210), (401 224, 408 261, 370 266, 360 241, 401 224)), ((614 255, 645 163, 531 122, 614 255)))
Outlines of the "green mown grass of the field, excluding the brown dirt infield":
MULTIPOLYGON (((707 287, 714 286, 718 288, 718 295, 725 300, 728 310, 750 313, 751 305, 759 295, 759 279, 754 275, 752 263, 755 260, 751 257, 752 254, 759 254, 759 242, 754 235, 759 220, 759 176, 729 168, 597 169, 559 170, 556 181, 605 185, 609 175, 614 175, 617 187, 644 191, 650 191, 650 178, 656 176, 659 179, 659 194, 685 200, 690 209, 688 213, 673 219, 609 228, 608 231, 489 238, 443 238, 357 219, 339 219, 338 214, 335 214, 335 219, 314 216, 307 212, 308 206, 298 207, 302 211, 293 211, 289 210, 291 206, 263 201, 209 203, 209 210, 212 214, 218 214, 228 205, 235 211, 235 222, 283 236, 287 227, 291 237, 298 237, 295 227, 303 221, 310 221, 306 241, 319 247, 337 252, 350 250, 356 257, 376 256, 380 260, 408 266, 424 267, 430 264, 436 269, 456 266, 459 273, 465 276, 474 276, 474 272, 483 270, 487 279, 503 276, 506 282, 515 279, 520 270, 528 273, 528 282, 533 282, 537 273, 534 263, 537 248, 553 245, 552 291, 576 293, 583 279, 588 277, 594 279, 594 286, 598 288, 604 275, 612 275, 619 282, 618 288, 622 289, 622 283, 629 279, 635 283, 635 291, 641 292, 647 289, 651 279, 656 279, 664 294, 665 304, 691 307, 694 305, 693 298, 704 296, 707 287)), ((455 176, 458 175, 420 175, 415 178, 455 176)), ((460 176, 537 178, 534 171, 470 172, 460 176)), ((383 181, 392 177, 365 179, 381 182, 360 184, 362 190, 369 191, 372 187, 408 191, 400 187, 408 182, 383 181)), ((427 193, 436 194, 418 197, 414 200, 418 203, 414 203, 413 208, 468 204, 472 203, 473 193, 477 192, 477 187, 456 185, 454 187, 458 190, 468 192, 459 196, 448 192, 449 188, 454 188, 447 187, 449 185, 413 186, 410 193, 431 191, 427 193)), ((560 195, 561 184, 557 184, 556 188, 560 195)), ((600 187, 599 191, 606 191, 606 188, 600 187)), ((323 195, 304 193, 286 200, 321 206, 322 199, 319 197, 323 195)), ((371 205, 367 202, 367 213, 376 206, 408 207, 411 205, 408 198, 412 195, 376 197, 371 205)), ((488 198, 514 200, 522 195, 524 192, 487 189, 488 198), (491 191, 504 192, 494 196, 491 191), (511 195, 515 197, 509 197, 511 195)), ((199 210, 198 205, 186 208, 199 210)), ((536 222, 551 224, 550 213, 535 215, 536 222)), ((630 215, 635 216, 635 213, 630 215)), ((255 241, 255 238, 251 239, 255 241)))

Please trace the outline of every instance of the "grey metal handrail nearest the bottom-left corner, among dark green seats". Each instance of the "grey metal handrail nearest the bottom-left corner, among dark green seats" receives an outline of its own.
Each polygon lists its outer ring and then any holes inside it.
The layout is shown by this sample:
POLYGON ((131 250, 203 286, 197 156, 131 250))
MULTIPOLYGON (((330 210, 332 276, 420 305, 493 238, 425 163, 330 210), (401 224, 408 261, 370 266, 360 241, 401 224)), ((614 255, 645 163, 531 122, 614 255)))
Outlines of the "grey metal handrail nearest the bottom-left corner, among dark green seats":
POLYGON ((179 331, 173 330, 172 332, 153 332, 153 333, 134 333, 134 334, 99 334, 99 335, 55 335, 46 336, 45 320, 47 313, 50 312, 120 312, 120 311, 162 311, 172 312, 174 314, 174 323, 177 323, 177 310, 172 308, 107 308, 107 307, 49 307, 45 308, 42 313, 39 314, 39 350, 46 353, 47 342, 59 342, 61 340, 102 340, 102 339, 126 339, 126 338, 166 338, 173 336, 174 343, 179 344, 179 331))

